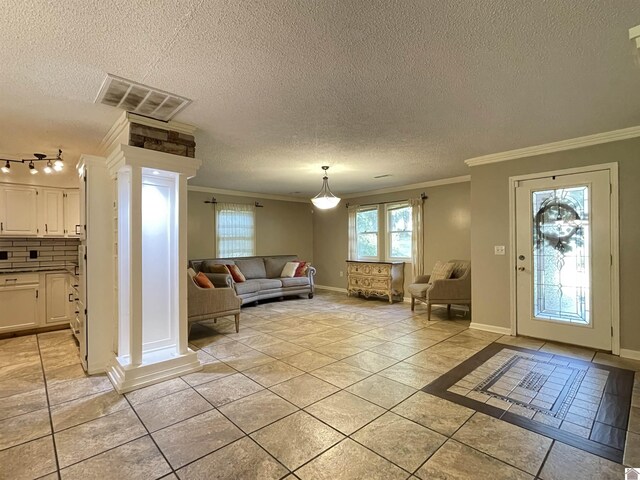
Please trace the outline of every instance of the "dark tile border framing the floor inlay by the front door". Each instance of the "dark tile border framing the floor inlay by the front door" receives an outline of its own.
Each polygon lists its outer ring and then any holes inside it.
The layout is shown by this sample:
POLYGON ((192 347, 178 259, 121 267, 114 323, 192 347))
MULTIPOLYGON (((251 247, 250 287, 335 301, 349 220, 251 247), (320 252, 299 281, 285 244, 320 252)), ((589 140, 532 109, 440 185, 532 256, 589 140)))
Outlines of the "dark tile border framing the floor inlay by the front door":
POLYGON ((431 382, 429 385, 424 387, 422 391, 500 420, 504 420, 513 425, 526 428, 532 432, 545 435, 549 438, 553 438, 573 447, 593 453, 594 455, 598 455, 617 463, 622 463, 624 456, 624 436, 626 436, 627 424, 629 421, 634 375, 635 372, 631 370, 611 367, 609 365, 587 362, 562 355, 554 355, 547 352, 539 352, 537 350, 530 350, 507 344, 492 343, 480 350, 471 358, 459 364, 457 367, 431 382), (457 383, 472 370, 484 364, 496 353, 504 349, 534 354, 537 357, 547 357, 549 360, 557 359, 569 362, 576 366, 597 366, 597 368, 607 370, 609 372, 609 377, 604 389, 604 395, 596 414, 591 439, 586 439, 558 428, 544 425, 521 415, 510 413, 508 410, 503 410, 502 408, 494 407, 493 405, 487 405, 477 400, 473 400, 472 398, 464 397, 457 393, 448 391, 452 385, 457 383), (622 444, 620 442, 620 437, 623 435, 621 431, 624 432, 622 444), (601 441, 607 441, 608 438, 612 437, 613 433, 615 433, 615 435, 613 435, 615 439, 612 438, 612 443, 614 443, 614 445, 605 445, 593 440, 598 439, 601 441))

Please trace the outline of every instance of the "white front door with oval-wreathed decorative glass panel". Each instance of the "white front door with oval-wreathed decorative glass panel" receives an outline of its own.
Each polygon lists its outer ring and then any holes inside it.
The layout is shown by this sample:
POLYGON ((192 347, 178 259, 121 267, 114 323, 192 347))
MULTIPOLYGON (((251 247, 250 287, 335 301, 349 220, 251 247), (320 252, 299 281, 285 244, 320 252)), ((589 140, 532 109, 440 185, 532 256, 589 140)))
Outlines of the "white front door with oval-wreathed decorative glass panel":
POLYGON ((517 332, 611 350, 609 171, 516 187, 517 332))

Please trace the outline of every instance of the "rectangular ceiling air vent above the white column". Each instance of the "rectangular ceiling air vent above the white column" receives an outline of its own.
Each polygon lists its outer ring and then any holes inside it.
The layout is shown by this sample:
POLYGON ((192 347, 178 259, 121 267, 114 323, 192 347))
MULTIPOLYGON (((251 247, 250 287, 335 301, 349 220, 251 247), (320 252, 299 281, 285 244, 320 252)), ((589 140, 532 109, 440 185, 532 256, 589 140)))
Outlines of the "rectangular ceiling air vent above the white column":
POLYGON ((127 112, 167 122, 191 100, 180 95, 107 74, 95 103, 122 108, 127 112))

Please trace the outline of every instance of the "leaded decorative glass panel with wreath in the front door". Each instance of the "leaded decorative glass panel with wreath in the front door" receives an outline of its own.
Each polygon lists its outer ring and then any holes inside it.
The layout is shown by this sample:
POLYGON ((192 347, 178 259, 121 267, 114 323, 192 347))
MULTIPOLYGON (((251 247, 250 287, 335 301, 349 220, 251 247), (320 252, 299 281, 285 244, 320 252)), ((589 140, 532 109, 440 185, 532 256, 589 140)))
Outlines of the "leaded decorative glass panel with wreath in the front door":
POLYGON ((533 316, 589 325, 589 186, 532 192, 533 316))

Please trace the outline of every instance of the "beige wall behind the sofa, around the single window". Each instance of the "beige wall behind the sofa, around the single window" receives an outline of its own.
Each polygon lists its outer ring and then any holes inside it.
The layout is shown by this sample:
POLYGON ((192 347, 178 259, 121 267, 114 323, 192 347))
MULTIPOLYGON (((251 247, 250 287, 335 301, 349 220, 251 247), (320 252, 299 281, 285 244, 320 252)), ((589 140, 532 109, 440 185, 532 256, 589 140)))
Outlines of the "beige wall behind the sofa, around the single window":
POLYGON ((254 203, 256 208, 256 255, 298 255, 313 261, 313 221, 311 204, 260 198, 238 197, 190 191, 188 195, 188 257, 216 256, 215 212, 204 203, 215 196, 219 202, 254 203))

